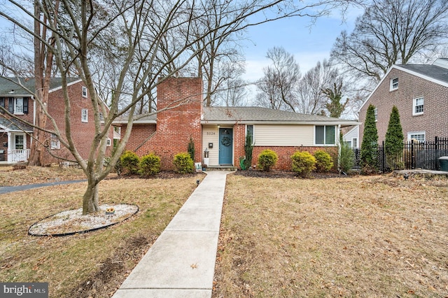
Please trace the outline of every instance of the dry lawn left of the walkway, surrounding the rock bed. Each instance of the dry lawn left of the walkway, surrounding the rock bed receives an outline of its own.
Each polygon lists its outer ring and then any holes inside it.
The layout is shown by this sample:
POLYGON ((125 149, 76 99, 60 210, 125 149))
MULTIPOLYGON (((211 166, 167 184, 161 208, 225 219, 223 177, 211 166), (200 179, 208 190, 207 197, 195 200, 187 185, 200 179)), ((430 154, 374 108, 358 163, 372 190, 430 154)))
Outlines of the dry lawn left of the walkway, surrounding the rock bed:
POLYGON ((66 237, 28 236, 27 229, 79 208, 87 183, 1 194, 0 281, 48 282, 50 297, 109 297, 195 190, 197 178, 103 180, 100 204, 136 204, 139 213, 108 229, 66 237))

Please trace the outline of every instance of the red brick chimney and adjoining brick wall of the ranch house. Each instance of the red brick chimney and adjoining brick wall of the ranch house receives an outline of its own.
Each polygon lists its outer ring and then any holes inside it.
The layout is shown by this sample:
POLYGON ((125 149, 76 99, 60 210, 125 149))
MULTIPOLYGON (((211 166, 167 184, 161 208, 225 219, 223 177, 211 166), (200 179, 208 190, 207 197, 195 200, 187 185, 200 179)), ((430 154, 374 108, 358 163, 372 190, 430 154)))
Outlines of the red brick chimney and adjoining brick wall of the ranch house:
MULTIPOLYGON (((168 78, 158 85, 158 111, 155 134, 154 126, 134 125, 126 150, 137 150, 144 156, 154 152, 161 159, 162 169, 174 169, 174 155, 188 151, 190 138, 195 143, 195 162, 202 160, 202 79, 168 78), (178 107, 176 104, 181 104, 178 107), (166 111, 160 111, 169 108, 166 111), (134 130, 135 129, 135 130, 134 130), (144 142, 146 141, 146 142, 144 142)), ((125 134, 126 125, 121 129, 125 134)))

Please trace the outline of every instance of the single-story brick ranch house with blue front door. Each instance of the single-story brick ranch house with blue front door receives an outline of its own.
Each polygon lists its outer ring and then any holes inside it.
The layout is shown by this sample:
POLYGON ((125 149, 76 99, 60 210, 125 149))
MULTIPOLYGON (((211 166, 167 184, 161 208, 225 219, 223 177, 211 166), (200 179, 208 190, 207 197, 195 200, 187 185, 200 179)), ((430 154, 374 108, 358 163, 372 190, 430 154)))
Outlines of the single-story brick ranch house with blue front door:
MULTIPOLYGON (((195 143, 195 162, 208 166, 239 167, 244 157, 246 134, 253 135, 253 160, 257 164, 262 150, 279 155, 274 169, 290 169, 290 155, 297 150, 337 152, 339 129, 358 122, 304 115, 260 107, 204 107, 201 78, 167 78, 158 85, 158 109, 173 101, 188 98, 188 103, 156 115, 134 121, 126 150, 139 156, 154 152, 161 158, 162 169, 173 169, 174 155, 187 152, 188 142, 195 143), (205 152, 207 150, 207 153, 205 152), (205 158, 205 155, 208 158, 205 158)), ((127 120, 114 125, 123 136, 127 120)))

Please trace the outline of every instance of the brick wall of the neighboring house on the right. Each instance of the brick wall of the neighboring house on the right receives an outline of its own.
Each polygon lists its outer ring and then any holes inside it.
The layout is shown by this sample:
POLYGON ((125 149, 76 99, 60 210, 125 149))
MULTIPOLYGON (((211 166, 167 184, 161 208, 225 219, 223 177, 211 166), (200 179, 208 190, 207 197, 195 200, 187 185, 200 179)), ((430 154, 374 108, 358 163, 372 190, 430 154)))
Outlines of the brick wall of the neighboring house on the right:
POLYGON ((400 122, 407 140, 408 132, 426 132, 426 140, 435 136, 448 136, 448 88, 413 76, 405 71, 392 69, 386 78, 361 108, 359 120, 360 143, 364 132, 365 114, 369 104, 378 109, 377 129, 379 143, 386 137, 387 126, 392 107, 395 105, 400 113, 400 122), (389 91, 390 80, 398 78, 398 89, 389 91), (423 115, 412 115, 413 99, 424 97, 423 115))

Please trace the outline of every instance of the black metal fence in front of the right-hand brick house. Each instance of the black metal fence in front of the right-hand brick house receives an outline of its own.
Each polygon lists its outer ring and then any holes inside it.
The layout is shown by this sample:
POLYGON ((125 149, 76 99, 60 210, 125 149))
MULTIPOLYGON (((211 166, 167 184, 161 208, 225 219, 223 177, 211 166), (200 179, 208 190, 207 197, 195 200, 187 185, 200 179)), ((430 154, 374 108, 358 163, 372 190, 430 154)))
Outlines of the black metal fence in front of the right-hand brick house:
MULTIPOLYGON (((428 169, 440 170, 439 157, 448 156, 448 138, 435 137, 434 141, 417 143, 405 142, 401 156, 386 156, 384 142, 377 146, 374 156, 377 159, 379 172, 388 172, 397 169, 428 169)), ((355 149, 354 169, 360 169, 360 150, 355 149)))

